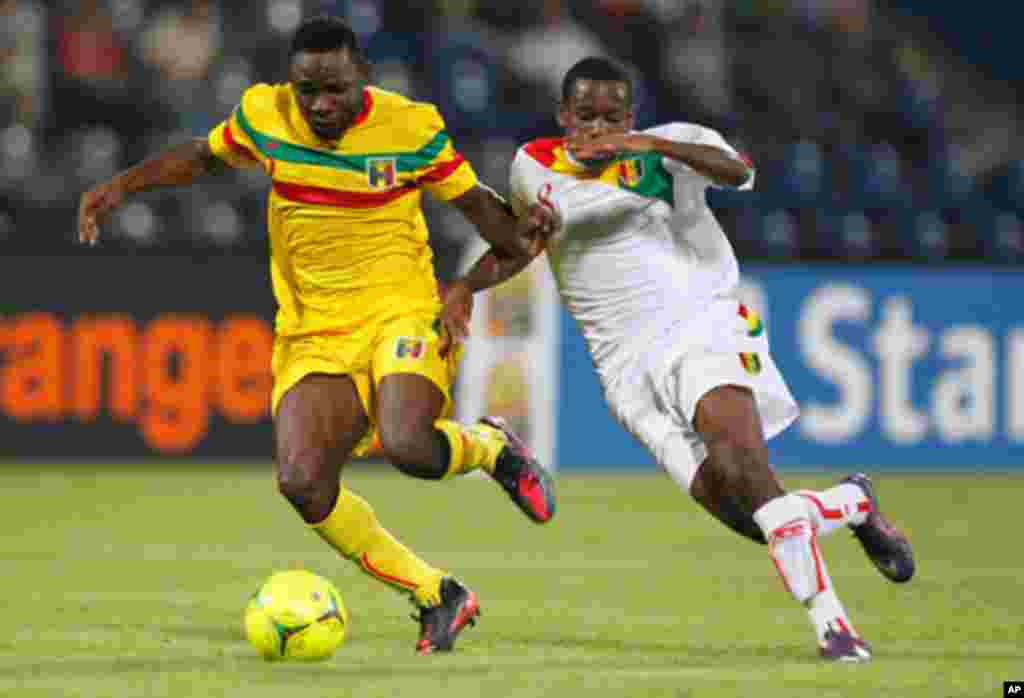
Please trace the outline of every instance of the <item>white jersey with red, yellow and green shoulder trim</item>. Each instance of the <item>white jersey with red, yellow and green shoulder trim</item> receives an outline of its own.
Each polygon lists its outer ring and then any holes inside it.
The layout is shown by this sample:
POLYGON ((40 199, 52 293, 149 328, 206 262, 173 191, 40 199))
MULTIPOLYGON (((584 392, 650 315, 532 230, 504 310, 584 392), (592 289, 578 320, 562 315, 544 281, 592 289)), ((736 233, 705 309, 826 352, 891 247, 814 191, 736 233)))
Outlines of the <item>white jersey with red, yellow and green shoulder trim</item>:
MULTIPOLYGON (((695 124, 644 133, 738 158, 718 132, 695 124)), ((739 281, 735 253, 705 200, 710 184, 656 154, 620 157, 595 174, 572 160, 560 138, 516 152, 513 205, 521 211, 543 189, 558 210, 562 226, 548 244, 548 259, 606 387, 626 363, 685 353, 694 341, 724 351, 764 349, 751 343, 742 323, 699 321, 716 303, 735 303, 739 281), (699 337, 709 333, 714 338, 699 337)), ((742 188, 751 187, 753 177, 742 188)))

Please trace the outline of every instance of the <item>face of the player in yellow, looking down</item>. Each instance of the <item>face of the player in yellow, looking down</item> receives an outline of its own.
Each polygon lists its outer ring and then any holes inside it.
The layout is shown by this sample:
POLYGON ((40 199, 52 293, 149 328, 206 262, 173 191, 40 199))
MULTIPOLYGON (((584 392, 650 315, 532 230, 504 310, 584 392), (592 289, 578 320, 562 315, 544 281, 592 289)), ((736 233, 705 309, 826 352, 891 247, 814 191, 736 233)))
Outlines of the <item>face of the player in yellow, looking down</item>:
POLYGON ((362 111, 366 70, 345 49, 300 51, 289 77, 302 116, 319 138, 341 138, 362 111))

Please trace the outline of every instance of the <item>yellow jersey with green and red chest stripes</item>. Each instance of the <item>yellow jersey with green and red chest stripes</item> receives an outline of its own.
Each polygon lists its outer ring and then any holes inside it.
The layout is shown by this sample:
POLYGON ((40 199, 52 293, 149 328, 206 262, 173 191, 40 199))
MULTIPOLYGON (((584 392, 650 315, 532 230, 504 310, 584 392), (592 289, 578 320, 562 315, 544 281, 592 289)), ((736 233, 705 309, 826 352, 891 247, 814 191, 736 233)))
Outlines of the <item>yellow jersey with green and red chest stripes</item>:
POLYGON ((229 165, 270 176, 280 336, 347 333, 439 308, 421 190, 447 201, 477 179, 433 104, 368 87, 362 112, 329 144, 309 129, 291 85, 259 84, 208 142, 229 165))

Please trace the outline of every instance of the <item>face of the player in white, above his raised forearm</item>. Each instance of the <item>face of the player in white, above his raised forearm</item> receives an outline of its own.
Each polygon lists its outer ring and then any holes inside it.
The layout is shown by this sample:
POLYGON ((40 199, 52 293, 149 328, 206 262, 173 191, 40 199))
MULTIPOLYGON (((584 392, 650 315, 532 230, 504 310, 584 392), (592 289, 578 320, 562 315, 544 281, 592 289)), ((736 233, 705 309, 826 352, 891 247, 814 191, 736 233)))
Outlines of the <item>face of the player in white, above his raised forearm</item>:
POLYGON ((630 87, 624 82, 577 80, 558 111, 558 124, 569 141, 625 133, 633 128, 630 87))

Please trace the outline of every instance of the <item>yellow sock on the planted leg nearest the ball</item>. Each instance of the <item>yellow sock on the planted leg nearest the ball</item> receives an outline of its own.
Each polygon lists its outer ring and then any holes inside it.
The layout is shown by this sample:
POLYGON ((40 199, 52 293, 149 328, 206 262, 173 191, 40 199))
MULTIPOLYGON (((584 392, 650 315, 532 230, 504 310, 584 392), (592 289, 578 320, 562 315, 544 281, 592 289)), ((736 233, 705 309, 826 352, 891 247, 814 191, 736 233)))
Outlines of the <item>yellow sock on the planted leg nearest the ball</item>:
POLYGON ((366 499, 342 485, 334 510, 313 530, 370 576, 413 596, 421 606, 440 603, 444 572, 420 560, 377 521, 366 499))

